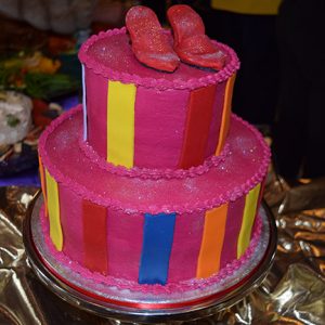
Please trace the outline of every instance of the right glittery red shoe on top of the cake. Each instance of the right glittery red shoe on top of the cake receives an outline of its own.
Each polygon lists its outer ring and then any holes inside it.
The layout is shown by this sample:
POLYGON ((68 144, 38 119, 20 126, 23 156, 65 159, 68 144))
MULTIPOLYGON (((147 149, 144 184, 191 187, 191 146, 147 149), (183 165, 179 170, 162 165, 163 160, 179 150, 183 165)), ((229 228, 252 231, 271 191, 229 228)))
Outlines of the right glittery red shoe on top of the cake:
POLYGON ((181 61, 213 69, 224 66, 226 55, 206 36, 200 16, 191 6, 172 5, 167 16, 173 29, 173 49, 181 61))

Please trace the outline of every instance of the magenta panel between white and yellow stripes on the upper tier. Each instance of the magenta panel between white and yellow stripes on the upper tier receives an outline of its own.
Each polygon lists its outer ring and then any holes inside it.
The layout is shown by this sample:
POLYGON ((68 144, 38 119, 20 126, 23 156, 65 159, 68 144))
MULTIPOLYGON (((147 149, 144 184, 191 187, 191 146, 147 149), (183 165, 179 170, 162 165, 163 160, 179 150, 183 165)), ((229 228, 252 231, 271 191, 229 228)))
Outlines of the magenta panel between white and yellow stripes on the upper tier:
POLYGON ((106 159, 108 80, 86 68, 88 142, 106 159))

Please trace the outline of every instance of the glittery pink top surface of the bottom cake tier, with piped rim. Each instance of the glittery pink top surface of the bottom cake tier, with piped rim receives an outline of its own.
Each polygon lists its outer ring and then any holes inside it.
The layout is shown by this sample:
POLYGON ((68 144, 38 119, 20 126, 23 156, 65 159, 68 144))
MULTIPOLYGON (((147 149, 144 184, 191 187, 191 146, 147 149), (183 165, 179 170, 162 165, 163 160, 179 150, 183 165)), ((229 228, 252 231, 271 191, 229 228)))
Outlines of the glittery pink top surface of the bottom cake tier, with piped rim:
POLYGON ((129 213, 207 210, 247 194, 262 181, 270 150, 260 133, 232 118, 230 154, 207 173, 185 179, 144 180, 99 169, 79 147, 82 136, 80 106, 54 120, 42 133, 39 152, 52 177, 79 196, 129 213))

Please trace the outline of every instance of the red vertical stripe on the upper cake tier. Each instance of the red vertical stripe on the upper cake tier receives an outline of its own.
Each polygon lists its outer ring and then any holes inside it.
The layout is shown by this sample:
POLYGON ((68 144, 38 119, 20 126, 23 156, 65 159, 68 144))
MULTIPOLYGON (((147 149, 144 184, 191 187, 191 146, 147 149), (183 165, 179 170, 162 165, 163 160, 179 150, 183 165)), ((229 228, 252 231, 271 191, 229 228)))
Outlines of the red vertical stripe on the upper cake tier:
POLYGON ((204 161, 214 96, 214 84, 191 91, 179 168, 187 169, 204 161))

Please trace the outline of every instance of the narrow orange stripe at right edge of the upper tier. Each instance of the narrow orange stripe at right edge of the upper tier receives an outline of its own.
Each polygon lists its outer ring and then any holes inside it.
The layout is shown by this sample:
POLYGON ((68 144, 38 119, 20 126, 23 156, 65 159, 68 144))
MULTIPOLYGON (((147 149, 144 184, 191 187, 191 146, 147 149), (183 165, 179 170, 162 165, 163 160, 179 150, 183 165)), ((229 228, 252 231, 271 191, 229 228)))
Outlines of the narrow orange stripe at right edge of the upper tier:
POLYGON ((227 79, 225 86, 222 121, 221 121, 219 142, 216 151, 216 156, 218 156, 221 153, 227 135, 235 78, 236 78, 236 74, 234 74, 230 79, 227 79))

